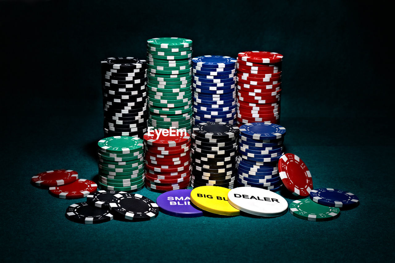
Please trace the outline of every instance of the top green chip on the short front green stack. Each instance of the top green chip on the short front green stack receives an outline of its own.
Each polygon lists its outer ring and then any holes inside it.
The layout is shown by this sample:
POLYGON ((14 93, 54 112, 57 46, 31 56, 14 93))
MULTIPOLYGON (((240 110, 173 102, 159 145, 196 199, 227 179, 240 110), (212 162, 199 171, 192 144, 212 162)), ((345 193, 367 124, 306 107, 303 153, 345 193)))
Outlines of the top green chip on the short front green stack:
POLYGON ((113 136, 98 142, 98 146, 103 152, 124 154, 140 151, 143 145, 143 140, 129 136, 113 136))

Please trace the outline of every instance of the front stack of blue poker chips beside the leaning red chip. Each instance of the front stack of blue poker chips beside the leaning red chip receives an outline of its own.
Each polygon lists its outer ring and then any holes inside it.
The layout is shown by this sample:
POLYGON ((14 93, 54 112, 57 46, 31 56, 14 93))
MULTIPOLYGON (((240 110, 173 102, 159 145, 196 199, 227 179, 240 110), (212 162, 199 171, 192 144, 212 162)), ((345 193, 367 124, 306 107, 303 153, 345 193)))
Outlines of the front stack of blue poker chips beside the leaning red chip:
POLYGON ((278 124, 254 122, 240 126, 237 181, 239 186, 252 186, 277 191, 282 180, 278 160, 286 130, 278 124))

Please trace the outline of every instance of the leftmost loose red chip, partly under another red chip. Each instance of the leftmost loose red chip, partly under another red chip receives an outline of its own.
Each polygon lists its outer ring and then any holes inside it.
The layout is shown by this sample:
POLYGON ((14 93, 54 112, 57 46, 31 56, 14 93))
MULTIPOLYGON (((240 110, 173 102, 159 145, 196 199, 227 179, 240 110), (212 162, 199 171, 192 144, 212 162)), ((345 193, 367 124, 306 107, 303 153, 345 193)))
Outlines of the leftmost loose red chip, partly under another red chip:
POLYGON ((78 173, 73 170, 53 170, 39 173, 32 177, 31 182, 35 186, 39 187, 49 187, 58 186, 64 184, 70 184, 78 179, 78 173))

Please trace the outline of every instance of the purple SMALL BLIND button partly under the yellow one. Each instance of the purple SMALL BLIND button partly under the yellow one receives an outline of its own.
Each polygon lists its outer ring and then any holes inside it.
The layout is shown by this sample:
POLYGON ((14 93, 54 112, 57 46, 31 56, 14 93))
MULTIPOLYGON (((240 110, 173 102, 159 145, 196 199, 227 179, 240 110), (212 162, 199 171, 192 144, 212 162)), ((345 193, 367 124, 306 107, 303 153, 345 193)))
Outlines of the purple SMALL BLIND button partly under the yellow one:
POLYGON ((162 213, 177 217, 199 217, 203 212, 190 204, 191 191, 189 189, 172 190, 162 193, 156 203, 162 213))

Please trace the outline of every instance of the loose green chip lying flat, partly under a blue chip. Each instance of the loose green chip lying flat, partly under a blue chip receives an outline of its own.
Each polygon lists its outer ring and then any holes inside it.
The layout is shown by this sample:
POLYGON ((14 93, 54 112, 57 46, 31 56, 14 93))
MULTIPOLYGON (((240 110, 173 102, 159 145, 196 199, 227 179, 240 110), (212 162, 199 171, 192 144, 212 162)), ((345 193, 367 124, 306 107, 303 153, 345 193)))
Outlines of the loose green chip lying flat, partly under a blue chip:
POLYGON ((337 218, 340 215, 340 209, 320 205, 306 198, 290 203, 290 213, 308 221, 328 221, 337 218))

